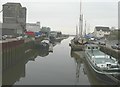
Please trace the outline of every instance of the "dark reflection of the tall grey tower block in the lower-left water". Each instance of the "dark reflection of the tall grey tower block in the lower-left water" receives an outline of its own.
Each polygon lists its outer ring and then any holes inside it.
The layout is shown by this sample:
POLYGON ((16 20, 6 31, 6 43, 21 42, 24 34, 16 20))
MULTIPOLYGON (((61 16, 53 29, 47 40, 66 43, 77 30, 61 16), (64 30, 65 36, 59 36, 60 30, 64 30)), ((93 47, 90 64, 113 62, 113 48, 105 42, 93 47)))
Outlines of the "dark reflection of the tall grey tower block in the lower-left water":
POLYGON ((2 85, 13 85, 20 78, 25 77, 25 61, 21 61, 15 66, 9 67, 9 69, 3 71, 2 85))

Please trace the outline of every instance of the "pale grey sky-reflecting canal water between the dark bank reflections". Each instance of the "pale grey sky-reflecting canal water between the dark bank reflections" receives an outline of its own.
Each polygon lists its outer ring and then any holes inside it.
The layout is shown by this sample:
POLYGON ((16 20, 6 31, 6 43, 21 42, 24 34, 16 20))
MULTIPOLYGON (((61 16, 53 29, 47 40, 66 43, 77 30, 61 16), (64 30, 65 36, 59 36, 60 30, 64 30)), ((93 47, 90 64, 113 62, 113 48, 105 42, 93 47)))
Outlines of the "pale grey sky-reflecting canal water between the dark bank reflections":
POLYGON ((89 85, 83 72, 83 64, 76 78, 76 61, 71 57, 69 42, 65 39, 53 48, 53 53, 47 56, 37 56, 35 61, 25 65, 25 77, 20 78, 14 85, 89 85), (79 81, 78 81, 79 79, 79 81))

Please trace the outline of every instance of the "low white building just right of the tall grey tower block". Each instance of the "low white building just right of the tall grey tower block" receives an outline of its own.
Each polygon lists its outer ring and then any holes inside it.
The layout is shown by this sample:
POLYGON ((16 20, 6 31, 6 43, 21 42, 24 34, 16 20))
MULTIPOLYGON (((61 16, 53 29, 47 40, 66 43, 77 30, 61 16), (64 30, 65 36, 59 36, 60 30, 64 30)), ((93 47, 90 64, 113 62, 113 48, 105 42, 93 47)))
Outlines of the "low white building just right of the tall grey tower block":
POLYGON ((36 23, 27 23, 26 24, 27 31, 39 32, 40 31, 40 22, 36 23))

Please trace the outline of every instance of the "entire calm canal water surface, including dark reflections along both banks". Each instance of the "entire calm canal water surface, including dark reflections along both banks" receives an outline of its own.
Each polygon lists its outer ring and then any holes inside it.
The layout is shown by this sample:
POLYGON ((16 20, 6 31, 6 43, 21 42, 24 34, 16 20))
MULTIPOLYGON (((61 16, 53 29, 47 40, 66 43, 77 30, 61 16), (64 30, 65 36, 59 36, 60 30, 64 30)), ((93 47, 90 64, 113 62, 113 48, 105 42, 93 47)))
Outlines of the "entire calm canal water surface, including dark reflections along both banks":
MULTIPOLYGON (((24 60, 3 72, 4 85, 104 85, 88 65, 71 51, 72 37, 47 50, 25 51, 24 60), (29 52, 30 51, 30 52, 29 52)), ((24 52, 23 52, 24 54, 24 52)), ((22 55, 22 53, 20 54, 22 55)))

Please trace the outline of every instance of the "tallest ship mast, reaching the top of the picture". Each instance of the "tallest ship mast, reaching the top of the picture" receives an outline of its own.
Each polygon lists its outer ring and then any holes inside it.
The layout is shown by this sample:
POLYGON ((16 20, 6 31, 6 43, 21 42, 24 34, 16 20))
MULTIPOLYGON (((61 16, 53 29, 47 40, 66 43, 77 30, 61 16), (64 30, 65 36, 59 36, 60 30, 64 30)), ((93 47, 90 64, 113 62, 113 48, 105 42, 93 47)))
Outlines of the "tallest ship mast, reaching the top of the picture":
POLYGON ((79 18, 79 36, 82 37, 83 32, 83 14, 82 14, 82 0, 80 0, 80 18, 79 18))

